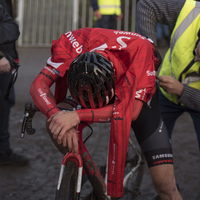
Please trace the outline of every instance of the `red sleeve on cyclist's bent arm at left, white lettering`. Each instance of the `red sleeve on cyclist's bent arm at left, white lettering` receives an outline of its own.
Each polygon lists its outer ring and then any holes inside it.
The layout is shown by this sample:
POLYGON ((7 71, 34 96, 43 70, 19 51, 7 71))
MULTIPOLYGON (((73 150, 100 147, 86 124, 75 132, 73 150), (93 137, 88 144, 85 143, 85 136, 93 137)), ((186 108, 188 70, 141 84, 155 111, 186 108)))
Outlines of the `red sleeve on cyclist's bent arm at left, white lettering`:
POLYGON ((51 85, 59 78, 52 67, 45 66, 37 75, 30 88, 30 94, 35 105, 47 118, 60 110, 50 90, 51 85))

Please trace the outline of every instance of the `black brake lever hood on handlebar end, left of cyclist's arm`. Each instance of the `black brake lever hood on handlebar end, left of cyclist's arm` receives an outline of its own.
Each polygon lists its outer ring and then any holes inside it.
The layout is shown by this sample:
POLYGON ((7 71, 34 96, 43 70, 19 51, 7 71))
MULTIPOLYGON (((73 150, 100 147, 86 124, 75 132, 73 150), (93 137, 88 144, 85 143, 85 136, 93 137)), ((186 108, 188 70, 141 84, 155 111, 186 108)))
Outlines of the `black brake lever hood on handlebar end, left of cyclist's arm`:
POLYGON ((35 133, 35 129, 32 128, 32 120, 33 120, 33 116, 35 115, 35 112, 37 111, 39 111, 39 109, 32 103, 27 102, 25 104, 24 119, 23 119, 22 128, 21 128, 21 138, 24 138, 25 131, 29 135, 33 135, 35 133))

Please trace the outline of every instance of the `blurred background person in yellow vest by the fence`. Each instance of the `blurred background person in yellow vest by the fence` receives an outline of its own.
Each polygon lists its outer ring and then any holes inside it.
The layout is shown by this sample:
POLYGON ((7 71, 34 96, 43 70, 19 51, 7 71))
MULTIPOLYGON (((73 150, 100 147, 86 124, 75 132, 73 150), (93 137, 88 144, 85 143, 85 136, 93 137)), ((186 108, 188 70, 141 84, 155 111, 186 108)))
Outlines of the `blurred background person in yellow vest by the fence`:
POLYGON ((91 0, 96 27, 116 29, 117 20, 122 19, 121 0, 91 0))

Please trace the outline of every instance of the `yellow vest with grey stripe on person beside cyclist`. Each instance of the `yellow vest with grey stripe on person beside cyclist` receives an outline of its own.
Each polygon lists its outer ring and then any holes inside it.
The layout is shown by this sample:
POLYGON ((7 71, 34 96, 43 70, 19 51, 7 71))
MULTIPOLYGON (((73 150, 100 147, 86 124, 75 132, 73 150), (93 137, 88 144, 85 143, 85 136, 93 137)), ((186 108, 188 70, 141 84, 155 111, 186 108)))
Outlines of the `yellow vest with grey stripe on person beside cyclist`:
MULTIPOLYGON (((170 49, 164 57, 159 76, 172 76, 200 90, 200 62, 195 62, 188 70, 185 70, 194 59, 193 50, 198 39, 199 28, 200 2, 187 0, 172 32, 170 49)), ((161 91, 170 101, 178 104, 177 95, 167 94, 162 88, 161 91)))

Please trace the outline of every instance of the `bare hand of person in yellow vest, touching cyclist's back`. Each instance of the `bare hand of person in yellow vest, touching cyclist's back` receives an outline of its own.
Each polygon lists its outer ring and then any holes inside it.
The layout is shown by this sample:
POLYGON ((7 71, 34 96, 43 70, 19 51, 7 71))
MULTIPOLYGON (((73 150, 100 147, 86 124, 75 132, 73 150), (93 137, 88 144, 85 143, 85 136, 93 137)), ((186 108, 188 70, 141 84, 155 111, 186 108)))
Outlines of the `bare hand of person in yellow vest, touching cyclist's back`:
POLYGON ((160 86, 168 94, 181 95, 183 91, 183 84, 171 76, 160 76, 158 77, 160 86))

